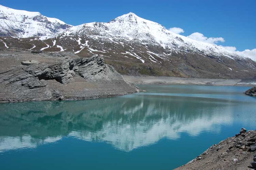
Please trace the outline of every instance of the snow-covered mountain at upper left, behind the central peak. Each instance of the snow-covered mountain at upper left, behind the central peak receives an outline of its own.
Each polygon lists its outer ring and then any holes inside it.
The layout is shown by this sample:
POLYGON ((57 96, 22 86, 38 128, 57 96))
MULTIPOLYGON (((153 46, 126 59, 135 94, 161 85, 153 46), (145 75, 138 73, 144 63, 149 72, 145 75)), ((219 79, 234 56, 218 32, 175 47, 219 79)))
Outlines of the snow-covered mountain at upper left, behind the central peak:
POLYGON ((14 10, 0 5, 0 36, 33 37, 52 35, 72 26, 39 12, 14 10))

